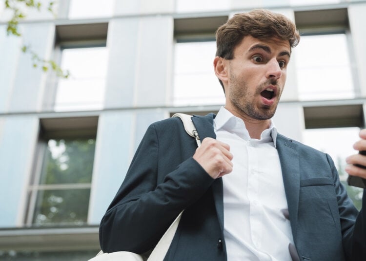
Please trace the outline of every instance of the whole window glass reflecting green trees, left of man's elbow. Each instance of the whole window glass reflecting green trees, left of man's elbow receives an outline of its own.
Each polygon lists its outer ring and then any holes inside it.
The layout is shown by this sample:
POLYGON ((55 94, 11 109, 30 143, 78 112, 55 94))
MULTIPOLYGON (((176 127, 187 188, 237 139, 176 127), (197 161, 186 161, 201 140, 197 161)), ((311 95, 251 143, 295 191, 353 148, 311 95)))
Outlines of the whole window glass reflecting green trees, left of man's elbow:
POLYGON ((44 147, 40 173, 29 187, 27 223, 86 224, 95 138, 49 139, 44 147))

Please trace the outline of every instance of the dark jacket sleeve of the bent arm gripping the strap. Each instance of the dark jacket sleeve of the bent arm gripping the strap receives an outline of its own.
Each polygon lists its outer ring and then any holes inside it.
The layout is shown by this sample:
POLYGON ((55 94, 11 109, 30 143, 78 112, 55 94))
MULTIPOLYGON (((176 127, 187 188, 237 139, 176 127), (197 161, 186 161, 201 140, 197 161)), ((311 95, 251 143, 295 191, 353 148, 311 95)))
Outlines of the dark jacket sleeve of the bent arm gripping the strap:
POLYGON ((161 144, 169 142, 167 138, 162 141, 164 135, 158 135, 155 125, 146 131, 122 186, 102 218, 99 236, 103 252, 141 254, 152 249, 178 214, 214 182, 192 157, 174 167, 164 162, 164 154, 179 155, 176 150, 180 149, 164 145, 162 151, 161 144), (158 182, 162 175, 163 182, 158 182))

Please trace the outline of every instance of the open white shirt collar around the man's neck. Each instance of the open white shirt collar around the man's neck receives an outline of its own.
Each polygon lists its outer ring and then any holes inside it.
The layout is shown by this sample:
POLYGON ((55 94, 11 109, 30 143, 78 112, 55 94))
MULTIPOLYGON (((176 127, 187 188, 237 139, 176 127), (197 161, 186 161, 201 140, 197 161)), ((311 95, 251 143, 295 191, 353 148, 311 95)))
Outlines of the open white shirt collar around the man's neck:
MULTIPOLYGON (((264 130, 261 134, 262 139, 270 139, 273 142, 274 147, 276 148, 276 139, 277 139, 277 128, 274 125, 273 120, 270 120, 271 124, 268 129, 264 130)), ((243 137, 245 140, 250 139, 249 132, 245 128, 244 121, 236 116, 234 116, 231 112, 226 110, 224 107, 220 108, 220 111, 217 113, 214 119, 214 128, 217 130, 226 130, 229 132, 233 132, 243 137)))

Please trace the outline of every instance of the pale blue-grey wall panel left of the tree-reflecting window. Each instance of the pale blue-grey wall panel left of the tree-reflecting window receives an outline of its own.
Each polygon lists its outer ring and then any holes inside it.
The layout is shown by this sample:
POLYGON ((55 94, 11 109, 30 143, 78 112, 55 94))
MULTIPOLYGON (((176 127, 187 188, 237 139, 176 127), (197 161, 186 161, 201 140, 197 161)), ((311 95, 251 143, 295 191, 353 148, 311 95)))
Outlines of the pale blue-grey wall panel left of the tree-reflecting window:
POLYGON ((34 116, 3 117, 0 136, 0 227, 21 224, 26 186, 31 174, 39 120, 34 116))

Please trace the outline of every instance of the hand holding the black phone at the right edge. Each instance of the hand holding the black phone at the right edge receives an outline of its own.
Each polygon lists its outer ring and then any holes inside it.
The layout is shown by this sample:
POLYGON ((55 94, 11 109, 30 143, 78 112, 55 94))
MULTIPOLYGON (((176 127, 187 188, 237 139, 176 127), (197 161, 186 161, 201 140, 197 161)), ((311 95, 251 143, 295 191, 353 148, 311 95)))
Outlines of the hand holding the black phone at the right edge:
MULTIPOLYGON (((353 145, 353 149, 359 151, 366 150, 366 129, 361 130, 359 136, 361 139, 353 145)), ((346 163, 348 166, 346 166, 345 170, 349 175, 366 179, 366 169, 354 166, 354 164, 366 166, 366 156, 361 154, 351 155, 346 158, 346 163)))

